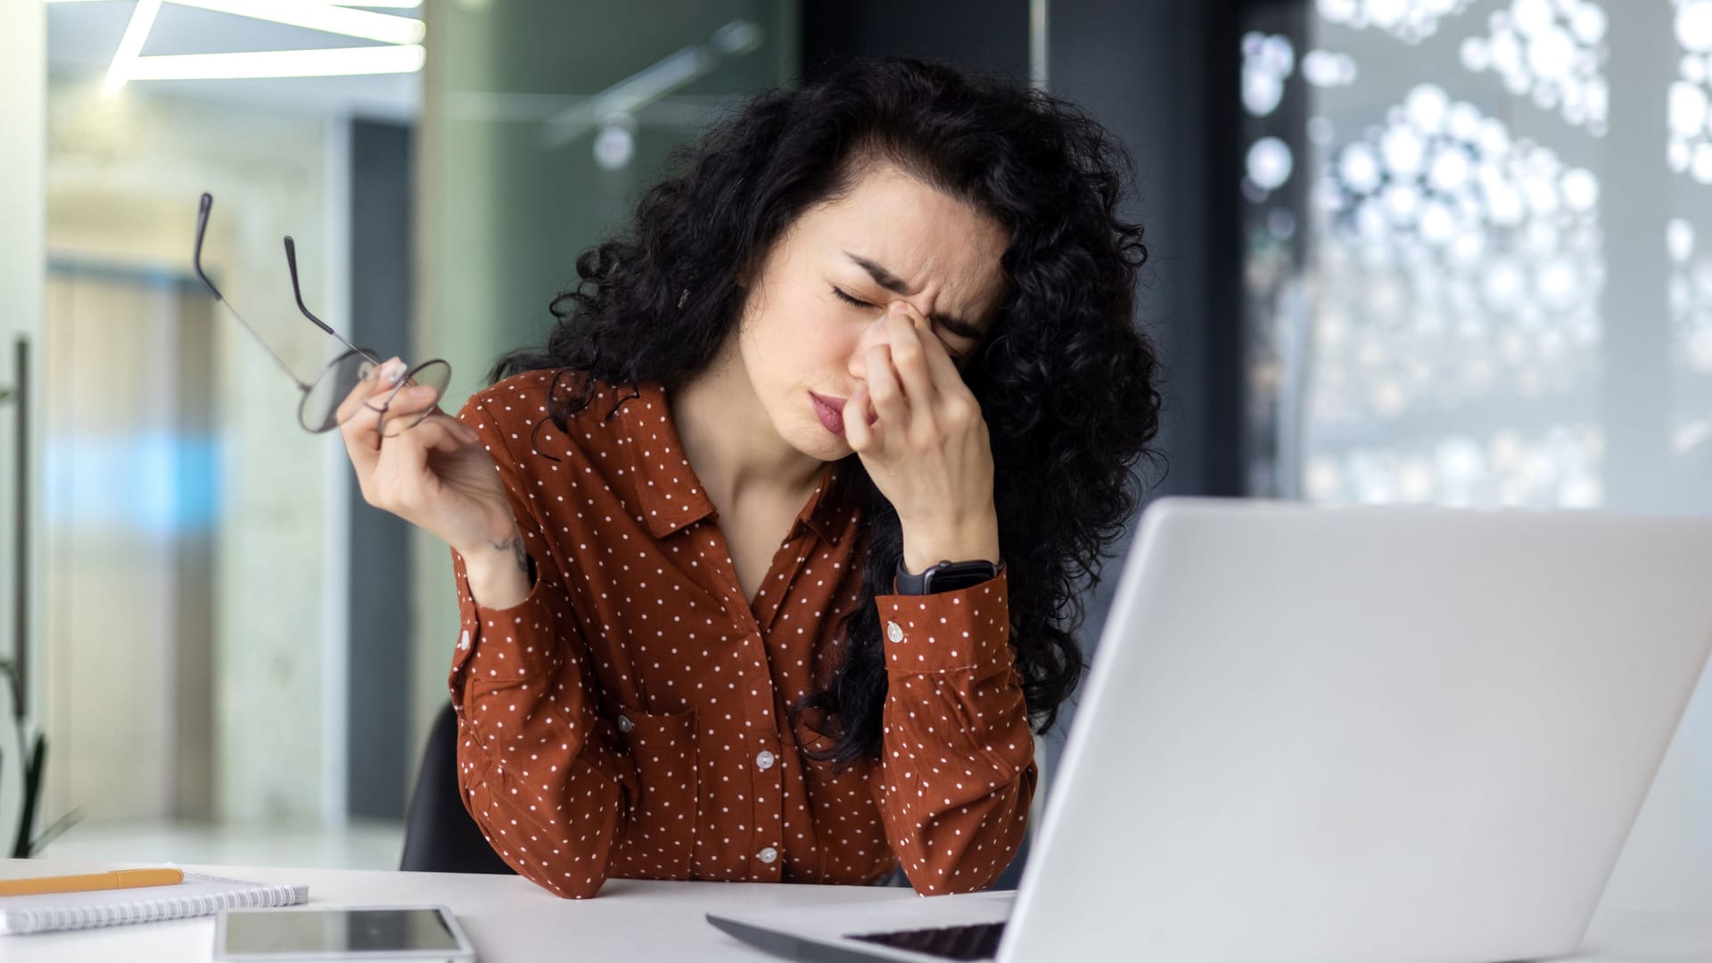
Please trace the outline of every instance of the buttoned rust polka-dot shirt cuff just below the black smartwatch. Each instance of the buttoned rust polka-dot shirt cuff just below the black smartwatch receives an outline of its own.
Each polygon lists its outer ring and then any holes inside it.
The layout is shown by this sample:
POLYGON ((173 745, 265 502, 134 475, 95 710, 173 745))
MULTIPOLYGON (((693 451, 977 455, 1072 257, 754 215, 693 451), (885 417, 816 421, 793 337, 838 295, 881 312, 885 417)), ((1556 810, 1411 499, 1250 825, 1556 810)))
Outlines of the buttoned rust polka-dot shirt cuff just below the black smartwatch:
POLYGON ((1010 601, 1005 572, 933 595, 878 595, 887 672, 1008 667, 1010 601))

